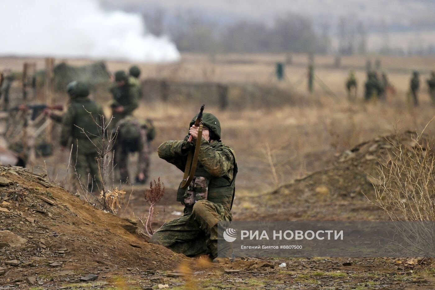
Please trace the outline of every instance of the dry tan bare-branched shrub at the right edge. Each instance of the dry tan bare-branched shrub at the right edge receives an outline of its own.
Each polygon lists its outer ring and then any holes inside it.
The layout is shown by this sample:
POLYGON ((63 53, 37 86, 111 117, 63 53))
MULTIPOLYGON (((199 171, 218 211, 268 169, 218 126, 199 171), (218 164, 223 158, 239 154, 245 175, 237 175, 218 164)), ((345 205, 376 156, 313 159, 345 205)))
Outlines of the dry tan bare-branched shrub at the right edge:
MULTIPOLYGON (((395 249, 415 256, 435 255, 435 156, 432 142, 415 135, 400 142, 378 168, 376 206, 394 222, 395 249)), ((395 142, 394 142, 395 143, 395 142)), ((394 252, 394 251, 393 251, 394 252)))

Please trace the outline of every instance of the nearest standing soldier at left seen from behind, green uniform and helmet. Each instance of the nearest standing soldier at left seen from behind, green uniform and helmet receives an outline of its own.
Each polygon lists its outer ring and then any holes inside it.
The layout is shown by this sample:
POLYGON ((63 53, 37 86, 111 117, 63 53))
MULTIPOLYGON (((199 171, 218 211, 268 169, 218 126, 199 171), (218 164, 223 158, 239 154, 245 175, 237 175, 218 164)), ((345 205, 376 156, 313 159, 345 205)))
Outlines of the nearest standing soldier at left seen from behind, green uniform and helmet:
POLYGON ((71 102, 62 118, 60 145, 66 147, 72 137, 73 165, 77 175, 91 192, 99 192, 102 183, 95 158, 98 157, 96 145, 100 144, 100 137, 96 136, 100 135, 100 128, 95 121, 100 125, 104 113, 99 105, 88 98, 89 89, 86 84, 73 81, 68 84, 67 91, 71 102))

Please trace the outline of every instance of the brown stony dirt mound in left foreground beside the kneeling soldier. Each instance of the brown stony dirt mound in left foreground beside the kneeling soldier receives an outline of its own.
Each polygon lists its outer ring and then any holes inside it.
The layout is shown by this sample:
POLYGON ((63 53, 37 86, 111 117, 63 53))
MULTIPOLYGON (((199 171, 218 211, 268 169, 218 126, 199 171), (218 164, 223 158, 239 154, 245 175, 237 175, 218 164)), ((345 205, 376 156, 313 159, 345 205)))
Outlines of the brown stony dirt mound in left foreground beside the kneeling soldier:
POLYGON ((144 241, 128 220, 20 167, 0 166, 0 193, 0 285, 34 282, 45 288, 88 274, 100 280, 152 274, 186 259, 144 241))

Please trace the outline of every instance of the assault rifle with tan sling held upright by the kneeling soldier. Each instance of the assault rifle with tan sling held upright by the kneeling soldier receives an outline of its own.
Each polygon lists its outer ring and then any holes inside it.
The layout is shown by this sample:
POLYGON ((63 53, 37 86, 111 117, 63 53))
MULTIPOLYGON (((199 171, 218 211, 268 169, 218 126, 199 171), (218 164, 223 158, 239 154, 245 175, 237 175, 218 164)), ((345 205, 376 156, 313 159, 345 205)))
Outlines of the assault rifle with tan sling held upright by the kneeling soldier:
MULTIPOLYGON (((198 136, 196 139, 195 147, 189 146, 190 150, 189 150, 189 154, 187 155, 186 167, 184 168, 183 181, 181 182, 182 189, 187 189, 187 187, 190 185, 190 183, 192 182, 192 180, 194 178, 196 165, 198 163, 199 150, 201 147, 202 128, 203 128, 202 114, 204 111, 204 107, 205 107, 205 105, 201 106, 199 114, 195 120, 195 127, 198 128, 198 136)), ((190 135, 190 133, 189 133, 189 138, 187 139, 187 144, 191 144, 192 139, 193 139, 193 136, 190 135)))

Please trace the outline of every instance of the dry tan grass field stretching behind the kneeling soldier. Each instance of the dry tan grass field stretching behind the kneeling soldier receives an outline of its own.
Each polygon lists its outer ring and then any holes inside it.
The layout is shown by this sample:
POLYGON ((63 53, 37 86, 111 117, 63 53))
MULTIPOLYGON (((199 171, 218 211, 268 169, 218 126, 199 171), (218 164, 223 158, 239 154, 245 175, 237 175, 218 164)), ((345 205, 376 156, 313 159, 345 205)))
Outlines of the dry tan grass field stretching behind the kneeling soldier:
MULTIPOLYGON (((341 67, 334 67, 334 57, 316 56, 315 74, 332 91, 325 91, 315 83, 315 92, 308 94, 307 72, 308 57, 293 55, 292 64, 286 66, 286 80, 278 82, 274 78, 274 65, 284 61, 285 55, 192 55, 185 54, 177 64, 140 64, 142 79, 167 79, 171 81, 221 82, 229 84, 230 105, 221 110, 207 105, 210 95, 203 100, 189 101, 188 98, 177 98, 184 101, 147 101, 147 92, 140 108, 134 115, 137 118, 151 118, 157 128, 157 137, 151 143, 151 179, 158 177, 167 189, 165 201, 157 206, 157 219, 154 226, 177 218, 174 214, 182 208, 175 202, 175 190, 181 181, 182 172, 174 166, 158 158, 156 149, 161 142, 182 139, 187 133, 191 118, 197 113, 202 102, 205 111, 212 112, 221 121, 222 141, 234 148, 239 167, 236 199, 234 201, 234 219, 386 219, 382 213, 368 205, 363 195, 349 198, 319 198, 313 194, 309 202, 297 199, 299 192, 287 192, 286 199, 295 202, 274 202, 272 195, 279 185, 300 179, 321 169, 327 169, 337 161, 339 155, 361 142, 378 136, 390 135, 408 130, 422 132, 432 137, 435 134, 435 123, 429 123, 435 116, 435 110, 428 98, 425 79, 429 72, 435 70, 434 58, 402 58, 379 57, 382 71, 387 72, 396 94, 389 94, 385 102, 362 101, 363 84, 365 82, 365 62, 376 57, 342 57, 341 67), (350 102, 345 92, 345 80, 349 69, 355 69, 358 78, 358 100, 350 102), (413 70, 421 71, 421 104, 410 106, 407 102, 409 78, 413 70), (299 81, 302 80, 302 81, 299 81), (231 100, 237 98, 237 87, 254 85, 255 88, 278 87, 287 92, 288 98, 274 100, 274 105, 243 106, 231 100), (428 124, 429 123, 429 124, 428 124), (281 207, 281 208, 280 208, 281 207), (271 212, 279 215, 271 215, 271 212), (295 214, 297 212, 297 214, 295 214), (340 216, 337 218, 337 215, 340 216)), ((24 59, 0 58, 0 70, 11 68, 20 70, 24 59)), ((35 59, 38 67, 43 67, 43 60, 35 59)), ((61 60, 57 60, 61 61, 61 60)), ((69 64, 87 64, 87 60, 67 60, 69 64)), ((125 62, 108 62, 110 71, 128 69, 131 64, 125 62)), ((279 98, 264 93, 264 100, 279 98)), ((98 91, 100 101, 109 113, 110 96, 106 91, 98 91)), ((64 99, 61 102, 66 102, 64 99)), ((257 103, 255 103, 257 104, 257 103)), ((381 137, 382 138, 382 137, 381 137)), ((131 158, 134 170, 136 156, 131 158)), ((46 161, 47 171, 52 179, 61 182, 64 179, 68 156, 55 152, 50 158, 38 160, 39 165, 46 161)), ((358 187, 355 182, 355 188, 358 187)), ((147 206, 143 199, 144 186, 127 186, 126 201, 120 210, 125 216, 144 216, 147 206)), ((282 198, 282 197, 281 197, 282 198)), ((281 200, 281 199, 278 199, 281 200)), ((280 264, 281 260, 269 260, 269 263, 280 264)), ((352 266, 341 266, 340 259, 286 259, 285 270, 268 267, 252 270, 252 261, 241 260, 231 266, 240 270, 238 274, 225 274, 222 266, 210 271, 210 278, 195 282, 196 289, 286 289, 293 287, 311 289, 325 287, 327 289, 381 289, 381 288, 417 288, 432 289, 435 278, 431 265, 415 266, 413 272, 402 273, 397 270, 397 261, 390 259, 355 259, 352 266), (301 265, 308 265, 301 267, 301 265), (221 272, 219 272, 221 271, 221 272), (237 276, 237 277, 236 277, 237 276), (224 277, 224 278, 222 278, 224 277), (248 281, 248 282, 246 282, 248 281)), ((254 261, 261 263, 261 261, 254 261)), ((264 262, 264 261, 263 261, 264 262)), ((172 279, 172 278, 171 278, 172 279)), ((171 280, 170 279, 170 280, 171 280)), ((174 278, 175 279, 175 278, 174 278)), ((191 279, 191 278, 189 278, 191 279)), ((178 278, 177 283, 185 285, 189 279, 178 278)), ((169 280, 167 280, 169 281, 169 280)), ((175 282, 174 282, 175 283, 175 282)), ((187 289, 195 289, 188 288, 187 289)), ((175 288, 174 288, 175 289, 175 288)))

